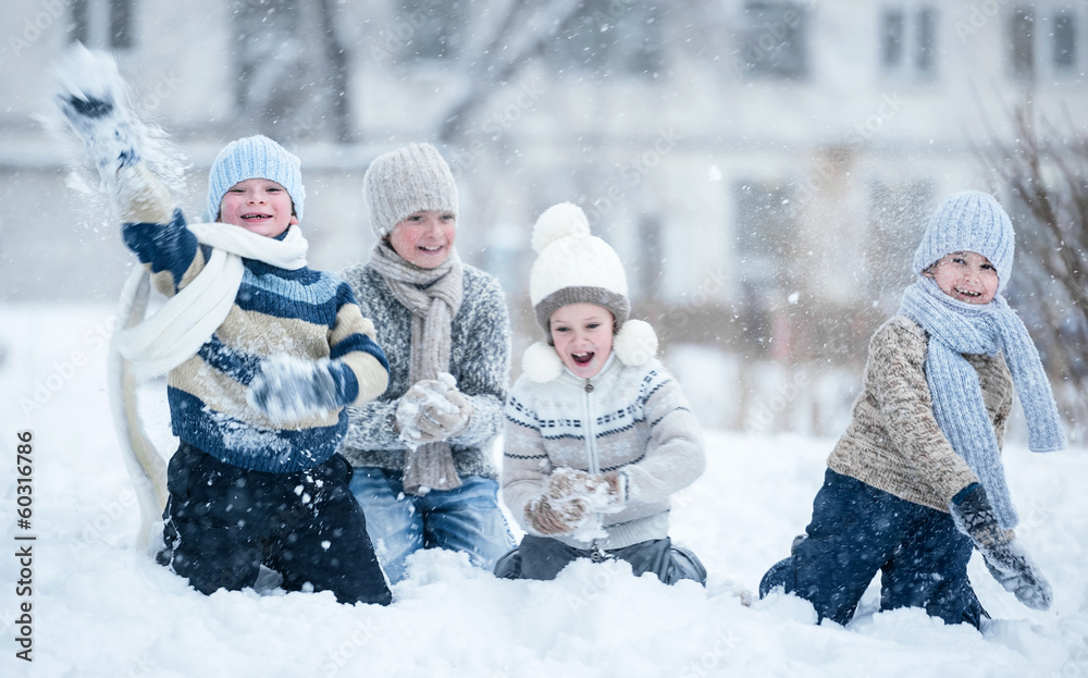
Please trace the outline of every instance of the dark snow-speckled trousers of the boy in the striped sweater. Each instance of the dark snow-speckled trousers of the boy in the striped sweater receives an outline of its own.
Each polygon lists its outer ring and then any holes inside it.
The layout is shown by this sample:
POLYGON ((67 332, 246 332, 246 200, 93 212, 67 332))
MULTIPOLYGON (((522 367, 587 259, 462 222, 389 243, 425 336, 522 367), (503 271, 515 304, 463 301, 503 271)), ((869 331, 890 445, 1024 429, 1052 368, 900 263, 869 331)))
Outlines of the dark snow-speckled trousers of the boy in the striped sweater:
POLYGON ((159 559, 197 591, 251 587, 264 565, 287 591, 309 585, 348 604, 393 600, 341 455, 305 471, 263 473, 183 442, 166 478, 159 559))

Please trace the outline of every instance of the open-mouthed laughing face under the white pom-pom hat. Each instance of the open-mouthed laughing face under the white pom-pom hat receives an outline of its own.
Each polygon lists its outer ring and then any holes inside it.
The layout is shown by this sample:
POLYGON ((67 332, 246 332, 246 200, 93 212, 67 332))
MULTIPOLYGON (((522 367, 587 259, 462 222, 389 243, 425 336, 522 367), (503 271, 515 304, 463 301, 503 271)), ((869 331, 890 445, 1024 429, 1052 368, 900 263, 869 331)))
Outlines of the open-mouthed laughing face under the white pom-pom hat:
POLYGON ((596 304, 568 304, 552 313, 555 352, 576 377, 596 377, 608 361, 614 323, 611 312, 596 304))

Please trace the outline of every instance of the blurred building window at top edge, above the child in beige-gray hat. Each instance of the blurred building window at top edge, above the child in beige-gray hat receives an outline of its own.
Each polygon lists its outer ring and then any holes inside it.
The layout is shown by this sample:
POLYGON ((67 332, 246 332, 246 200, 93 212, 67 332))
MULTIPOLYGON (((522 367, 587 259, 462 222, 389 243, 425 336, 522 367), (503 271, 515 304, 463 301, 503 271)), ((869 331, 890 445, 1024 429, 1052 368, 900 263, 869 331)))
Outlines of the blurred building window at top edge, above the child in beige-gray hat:
POLYGON ((457 59, 465 47, 467 24, 467 2, 400 0, 397 27, 407 35, 401 54, 409 62, 457 59))

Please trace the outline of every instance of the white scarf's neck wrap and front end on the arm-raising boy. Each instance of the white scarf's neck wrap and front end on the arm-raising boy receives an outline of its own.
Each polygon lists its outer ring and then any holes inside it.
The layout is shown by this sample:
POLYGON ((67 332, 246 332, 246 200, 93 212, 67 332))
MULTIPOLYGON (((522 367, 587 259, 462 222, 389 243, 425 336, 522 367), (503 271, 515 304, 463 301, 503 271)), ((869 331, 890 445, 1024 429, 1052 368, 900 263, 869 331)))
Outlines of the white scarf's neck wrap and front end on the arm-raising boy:
POLYGON ((238 296, 243 258, 290 271, 306 266, 309 243, 298 226, 288 226, 282 241, 224 223, 189 224, 188 229, 197 241, 212 247, 211 257, 193 282, 153 316, 122 332, 121 353, 133 361, 137 379, 163 374, 185 362, 223 324, 238 296))

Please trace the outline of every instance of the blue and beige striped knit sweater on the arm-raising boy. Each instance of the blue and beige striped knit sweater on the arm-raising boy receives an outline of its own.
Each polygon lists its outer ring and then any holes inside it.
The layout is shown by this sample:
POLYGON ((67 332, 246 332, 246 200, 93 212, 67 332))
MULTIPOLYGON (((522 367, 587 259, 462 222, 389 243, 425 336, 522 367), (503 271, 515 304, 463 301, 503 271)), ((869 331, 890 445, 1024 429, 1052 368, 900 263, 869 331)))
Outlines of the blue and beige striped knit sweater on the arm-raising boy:
MULTIPOLYGON (((181 210, 165 224, 126 223, 122 235, 168 297, 188 285, 211 256, 181 210)), ((166 375, 173 433, 233 466, 268 473, 311 468, 336 453, 347 415, 342 407, 287 426, 271 421, 246 402, 261 361, 329 358, 337 399, 362 403, 385 386, 385 356, 344 281, 306 267, 288 271, 245 258, 243 264, 226 319, 166 375)))

